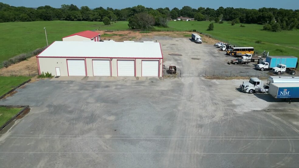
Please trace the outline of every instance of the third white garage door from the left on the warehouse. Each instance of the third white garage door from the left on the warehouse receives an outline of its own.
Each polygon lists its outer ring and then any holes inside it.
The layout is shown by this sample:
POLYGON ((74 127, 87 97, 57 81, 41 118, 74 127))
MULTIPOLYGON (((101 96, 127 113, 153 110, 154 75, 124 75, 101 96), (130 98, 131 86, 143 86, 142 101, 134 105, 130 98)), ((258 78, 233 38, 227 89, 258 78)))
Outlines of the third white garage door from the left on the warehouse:
POLYGON ((135 76, 134 60, 117 60, 118 76, 135 76))

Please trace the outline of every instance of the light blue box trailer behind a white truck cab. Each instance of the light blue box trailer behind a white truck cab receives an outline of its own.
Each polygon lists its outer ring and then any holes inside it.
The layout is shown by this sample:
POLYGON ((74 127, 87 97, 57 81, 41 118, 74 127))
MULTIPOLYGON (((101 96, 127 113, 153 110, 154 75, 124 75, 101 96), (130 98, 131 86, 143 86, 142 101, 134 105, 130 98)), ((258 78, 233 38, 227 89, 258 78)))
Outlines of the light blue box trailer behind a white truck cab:
POLYGON ((287 68, 296 68, 297 59, 294 56, 267 56, 266 62, 269 62, 269 68, 274 68, 278 64, 284 64, 287 68))

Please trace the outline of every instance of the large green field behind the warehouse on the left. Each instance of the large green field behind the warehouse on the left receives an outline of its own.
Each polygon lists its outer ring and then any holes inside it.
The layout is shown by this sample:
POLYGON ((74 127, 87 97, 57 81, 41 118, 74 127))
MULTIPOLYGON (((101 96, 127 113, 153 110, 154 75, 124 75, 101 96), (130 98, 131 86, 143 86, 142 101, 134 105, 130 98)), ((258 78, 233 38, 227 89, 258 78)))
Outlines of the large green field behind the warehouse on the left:
POLYGON ((105 26, 103 22, 71 22, 71 21, 37 21, 37 22, 8 22, 0 23, 0 62, 9 58, 33 51, 47 45, 46 27, 49 45, 62 37, 84 30, 128 29, 127 22, 112 22, 105 26))

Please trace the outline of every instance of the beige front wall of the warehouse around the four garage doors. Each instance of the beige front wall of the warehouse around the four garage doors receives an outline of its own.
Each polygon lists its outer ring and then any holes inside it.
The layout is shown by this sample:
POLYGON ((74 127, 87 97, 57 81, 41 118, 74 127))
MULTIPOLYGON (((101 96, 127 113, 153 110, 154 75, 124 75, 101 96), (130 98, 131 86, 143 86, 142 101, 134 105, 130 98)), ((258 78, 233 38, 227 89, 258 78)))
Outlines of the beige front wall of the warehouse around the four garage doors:
MULTIPOLYGON (((40 66, 40 73, 41 72, 49 72, 52 73, 53 76, 56 76, 56 69, 60 68, 60 75, 61 76, 68 76, 67 73, 67 59, 82 59, 82 58, 38 58, 39 66, 40 66)), ((94 58, 96 59, 96 58, 94 58)), ((100 58, 99 58, 100 59, 100 58)), ((86 70, 87 76, 93 76, 92 70, 92 58, 86 58, 86 70)), ((102 59, 100 59, 102 60, 102 59)), ((106 59, 107 60, 107 59, 106 59)), ((117 60, 134 60, 135 61, 135 69, 136 69, 136 76, 141 77, 141 62, 142 60, 159 60, 159 59, 108 59, 111 61, 111 70, 112 76, 117 76, 117 60)), ((160 77, 162 76, 162 59, 160 59, 160 77)))

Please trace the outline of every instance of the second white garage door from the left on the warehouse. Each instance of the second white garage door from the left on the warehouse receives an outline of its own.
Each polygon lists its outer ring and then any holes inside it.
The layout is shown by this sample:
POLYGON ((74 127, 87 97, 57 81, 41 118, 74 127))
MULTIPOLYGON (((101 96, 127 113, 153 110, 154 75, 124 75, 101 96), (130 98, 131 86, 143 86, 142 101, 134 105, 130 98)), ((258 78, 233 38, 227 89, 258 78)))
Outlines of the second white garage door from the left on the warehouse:
POLYGON ((94 76, 111 76, 110 60, 92 60, 94 76))

